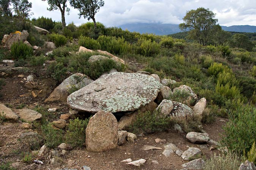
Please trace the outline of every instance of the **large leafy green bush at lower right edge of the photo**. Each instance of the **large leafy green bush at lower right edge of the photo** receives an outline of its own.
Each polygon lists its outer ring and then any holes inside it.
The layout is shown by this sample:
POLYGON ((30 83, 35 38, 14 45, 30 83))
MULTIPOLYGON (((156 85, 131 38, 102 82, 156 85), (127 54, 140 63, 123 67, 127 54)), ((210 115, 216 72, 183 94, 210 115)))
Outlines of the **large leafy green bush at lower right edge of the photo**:
POLYGON ((225 133, 221 144, 230 151, 242 155, 247 153, 256 141, 255 131, 256 108, 253 106, 239 106, 236 111, 229 113, 229 121, 223 127, 225 133))

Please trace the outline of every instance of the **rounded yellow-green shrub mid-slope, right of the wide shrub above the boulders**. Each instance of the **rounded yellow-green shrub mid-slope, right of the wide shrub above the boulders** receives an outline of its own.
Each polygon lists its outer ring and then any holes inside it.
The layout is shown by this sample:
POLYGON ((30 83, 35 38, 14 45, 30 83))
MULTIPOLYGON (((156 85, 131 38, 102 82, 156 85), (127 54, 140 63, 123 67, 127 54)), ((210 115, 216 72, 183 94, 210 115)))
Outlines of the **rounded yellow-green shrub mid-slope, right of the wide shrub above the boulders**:
POLYGON ((143 56, 153 56, 160 53, 160 45, 151 39, 147 40, 145 38, 138 39, 138 54, 143 56))

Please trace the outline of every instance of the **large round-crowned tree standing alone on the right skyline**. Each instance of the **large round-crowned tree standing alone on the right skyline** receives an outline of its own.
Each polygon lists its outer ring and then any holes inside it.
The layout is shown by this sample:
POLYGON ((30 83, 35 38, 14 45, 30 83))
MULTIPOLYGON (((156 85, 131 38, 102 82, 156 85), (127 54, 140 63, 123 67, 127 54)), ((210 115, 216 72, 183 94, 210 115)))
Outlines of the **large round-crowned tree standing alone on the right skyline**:
POLYGON ((214 19, 215 14, 209 8, 198 8, 186 12, 183 18, 184 23, 179 25, 181 30, 189 31, 192 39, 198 40, 202 45, 206 45, 213 28, 217 25, 218 19, 214 19))

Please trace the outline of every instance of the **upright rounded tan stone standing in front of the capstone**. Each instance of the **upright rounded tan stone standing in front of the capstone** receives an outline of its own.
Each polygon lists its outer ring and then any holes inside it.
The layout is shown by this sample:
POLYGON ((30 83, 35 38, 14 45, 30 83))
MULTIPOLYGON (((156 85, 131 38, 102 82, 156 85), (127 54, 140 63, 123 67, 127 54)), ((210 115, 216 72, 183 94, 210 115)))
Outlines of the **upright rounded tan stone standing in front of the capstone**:
POLYGON ((86 128, 86 148, 88 151, 102 152, 116 148, 118 128, 116 117, 105 111, 99 111, 91 117, 86 128))

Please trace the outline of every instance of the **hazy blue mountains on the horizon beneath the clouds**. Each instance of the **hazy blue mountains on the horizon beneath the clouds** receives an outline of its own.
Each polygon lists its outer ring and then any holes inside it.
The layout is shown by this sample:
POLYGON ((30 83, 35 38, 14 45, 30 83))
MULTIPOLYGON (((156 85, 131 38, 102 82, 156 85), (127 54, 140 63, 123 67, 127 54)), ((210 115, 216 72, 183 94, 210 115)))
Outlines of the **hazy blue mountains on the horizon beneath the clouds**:
MULTIPOLYGON (((181 32, 179 25, 177 24, 161 24, 161 23, 132 23, 120 25, 123 30, 127 29, 131 32, 153 33, 159 36, 175 34, 181 32)), ((233 25, 233 26, 221 26, 225 31, 234 32, 256 32, 256 26, 250 25, 233 25)))

